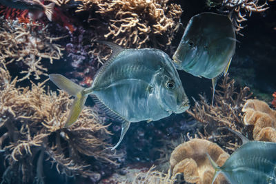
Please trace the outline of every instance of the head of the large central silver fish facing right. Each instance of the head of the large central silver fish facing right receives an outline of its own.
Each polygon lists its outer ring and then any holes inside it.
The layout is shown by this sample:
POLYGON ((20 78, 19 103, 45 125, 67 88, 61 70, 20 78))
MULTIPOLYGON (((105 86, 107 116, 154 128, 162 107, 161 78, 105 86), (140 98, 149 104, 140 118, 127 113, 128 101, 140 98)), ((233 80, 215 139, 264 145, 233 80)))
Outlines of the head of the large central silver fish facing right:
POLYGON ((166 65, 155 75, 159 101, 164 110, 179 114, 188 110, 189 100, 170 57, 164 54, 163 58, 166 65))

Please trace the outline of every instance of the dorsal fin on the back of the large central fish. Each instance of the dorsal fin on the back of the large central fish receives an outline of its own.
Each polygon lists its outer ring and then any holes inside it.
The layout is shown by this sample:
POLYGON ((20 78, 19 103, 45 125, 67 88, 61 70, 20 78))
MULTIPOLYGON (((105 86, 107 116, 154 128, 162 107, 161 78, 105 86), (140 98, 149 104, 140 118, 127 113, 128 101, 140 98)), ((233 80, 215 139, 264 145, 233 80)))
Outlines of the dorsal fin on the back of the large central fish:
POLYGON ((98 72, 95 74, 93 83, 95 83, 97 81, 98 76, 104 71, 106 70, 106 68, 110 65, 110 63, 112 63, 112 61, 114 61, 115 57, 120 54, 121 52, 123 52, 125 49, 121 48, 119 45, 109 42, 109 41, 97 41, 98 43, 103 43, 108 45, 111 49, 112 49, 112 53, 110 58, 108 59, 108 61, 106 61, 106 63, 103 64, 103 66, 101 66, 101 68, 98 70, 98 72))

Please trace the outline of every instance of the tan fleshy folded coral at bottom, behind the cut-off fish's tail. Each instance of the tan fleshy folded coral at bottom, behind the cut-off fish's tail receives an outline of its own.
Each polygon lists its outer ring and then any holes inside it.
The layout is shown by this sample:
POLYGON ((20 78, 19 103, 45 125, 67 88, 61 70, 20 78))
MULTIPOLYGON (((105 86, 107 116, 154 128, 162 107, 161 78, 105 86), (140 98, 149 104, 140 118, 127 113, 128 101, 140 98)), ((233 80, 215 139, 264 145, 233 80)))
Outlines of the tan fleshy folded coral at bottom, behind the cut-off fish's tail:
MULTIPOLYGON (((192 139, 178 145, 170 156, 170 170, 172 176, 181 172, 188 183, 208 184, 212 183, 215 170, 206 156, 206 153, 222 166, 229 154, 224 152, 217 144, 204 139, 192 139)), ((220 175, 215 183, 226 183, 226 178, 220 175)))

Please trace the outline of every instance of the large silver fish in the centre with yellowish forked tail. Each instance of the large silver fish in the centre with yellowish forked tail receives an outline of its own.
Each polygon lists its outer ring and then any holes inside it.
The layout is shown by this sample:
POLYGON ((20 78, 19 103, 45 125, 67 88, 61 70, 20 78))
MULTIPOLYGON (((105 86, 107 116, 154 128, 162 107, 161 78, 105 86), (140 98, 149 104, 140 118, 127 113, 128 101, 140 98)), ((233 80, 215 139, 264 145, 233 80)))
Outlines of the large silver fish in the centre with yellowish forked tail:
POLYGON ((50 74, 59 88, 75 96, 65 127, 72 125, 88 94, 97 97, 112 116, 122 122, 121 143, 130 123, 157 121, 172 112, 188 110, 188 98, 170 57, 157 49, 112 48, 112 56, 99 69, 90 88, 82 88, 60 74, 50 74))

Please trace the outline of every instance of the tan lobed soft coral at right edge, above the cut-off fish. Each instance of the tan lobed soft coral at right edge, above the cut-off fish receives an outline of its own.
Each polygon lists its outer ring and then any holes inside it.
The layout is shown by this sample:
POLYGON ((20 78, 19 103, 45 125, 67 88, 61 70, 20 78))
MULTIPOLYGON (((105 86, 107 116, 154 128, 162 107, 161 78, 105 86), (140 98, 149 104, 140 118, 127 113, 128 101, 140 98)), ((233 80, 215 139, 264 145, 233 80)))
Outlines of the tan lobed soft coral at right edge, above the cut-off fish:
POLYGON ((253 138, 256 141, 276 142, 276 111, 264 101, 248 100, 242 109, 244 124, 254 125, 253 138))

